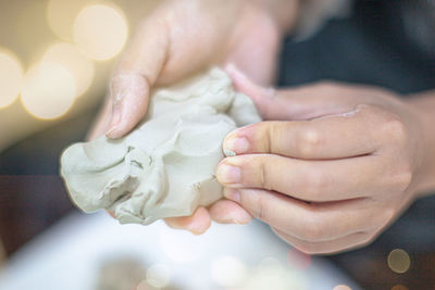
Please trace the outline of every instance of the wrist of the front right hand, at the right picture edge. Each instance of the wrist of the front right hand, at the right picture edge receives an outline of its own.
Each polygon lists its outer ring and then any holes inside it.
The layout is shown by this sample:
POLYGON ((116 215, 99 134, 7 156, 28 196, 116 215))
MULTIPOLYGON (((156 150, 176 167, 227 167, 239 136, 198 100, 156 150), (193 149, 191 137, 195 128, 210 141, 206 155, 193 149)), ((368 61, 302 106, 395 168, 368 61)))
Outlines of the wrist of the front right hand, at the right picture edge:
POLYGON ((409 104, 418 113, 423 133, 420 146, 423 157, 417 186, 417 194, 422 197, 435 191, 435 91, 413 96, 409 104))

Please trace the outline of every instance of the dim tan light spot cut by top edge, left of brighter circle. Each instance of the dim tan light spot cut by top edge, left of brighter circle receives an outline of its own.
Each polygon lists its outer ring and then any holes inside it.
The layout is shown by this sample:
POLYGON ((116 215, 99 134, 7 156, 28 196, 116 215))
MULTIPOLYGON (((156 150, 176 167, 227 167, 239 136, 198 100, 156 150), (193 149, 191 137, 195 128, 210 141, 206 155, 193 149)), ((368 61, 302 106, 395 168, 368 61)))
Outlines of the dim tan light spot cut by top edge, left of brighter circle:
POLYGON ((61 39, 72 40, 74 20, 89 2, 90 0, 50 0, 46 14, 51 30, 61 39))

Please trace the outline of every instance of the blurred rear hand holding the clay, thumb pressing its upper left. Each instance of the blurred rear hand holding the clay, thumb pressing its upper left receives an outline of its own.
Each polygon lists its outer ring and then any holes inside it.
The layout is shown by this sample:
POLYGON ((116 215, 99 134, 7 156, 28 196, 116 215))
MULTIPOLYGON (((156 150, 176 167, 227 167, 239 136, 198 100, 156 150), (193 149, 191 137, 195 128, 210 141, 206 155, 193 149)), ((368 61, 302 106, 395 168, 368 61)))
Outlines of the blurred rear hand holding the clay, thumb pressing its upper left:
MULTIPOLYGON (((125 50, 112 76, 107 104, 89 138, 104 133, 110 138, 124 136, 146 114, 151 88, 210 65, 235 63, 256 81, 270 85, 284 23, 289 24, 275 14, 291 18, 296 5, 296 0, 163 2, 139 25, 125 50), (279 9, 278 2, 286 8, 279 9), (283 11, 289 15, 282 14, 283 11)), ((167 222, 194 232, 204 231, 210 225, 206 209, 199 209, 195 216, 167 222)))

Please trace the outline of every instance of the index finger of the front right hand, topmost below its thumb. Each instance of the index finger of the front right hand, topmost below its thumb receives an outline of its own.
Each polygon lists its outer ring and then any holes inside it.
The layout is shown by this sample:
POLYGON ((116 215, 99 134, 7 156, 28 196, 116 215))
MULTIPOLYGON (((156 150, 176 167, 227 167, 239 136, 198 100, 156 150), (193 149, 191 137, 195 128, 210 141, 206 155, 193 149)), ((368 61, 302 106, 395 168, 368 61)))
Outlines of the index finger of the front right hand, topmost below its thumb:
POLYGON ((300 122, 261 122, 231 133, 223 143, 232 154, 273 153, 297 159, 343 159, 381 147, 376 111, 361 105, 346 115, 300 122))

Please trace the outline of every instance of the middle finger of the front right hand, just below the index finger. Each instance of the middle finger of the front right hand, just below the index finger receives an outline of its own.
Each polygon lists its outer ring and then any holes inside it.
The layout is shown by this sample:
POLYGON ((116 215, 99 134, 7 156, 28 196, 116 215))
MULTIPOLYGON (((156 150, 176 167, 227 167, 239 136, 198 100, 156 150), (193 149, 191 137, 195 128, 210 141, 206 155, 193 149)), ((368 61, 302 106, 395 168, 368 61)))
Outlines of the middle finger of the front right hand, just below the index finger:
POLYGON ((376 156, 306 161, 272 154, 226 157, 216 168, 224 187, 260 188, 304 201, 363 198, 394 188, 381 178, 387 171, 376 156))

